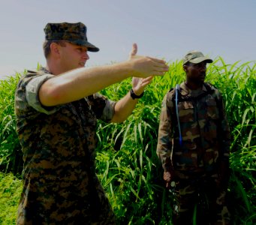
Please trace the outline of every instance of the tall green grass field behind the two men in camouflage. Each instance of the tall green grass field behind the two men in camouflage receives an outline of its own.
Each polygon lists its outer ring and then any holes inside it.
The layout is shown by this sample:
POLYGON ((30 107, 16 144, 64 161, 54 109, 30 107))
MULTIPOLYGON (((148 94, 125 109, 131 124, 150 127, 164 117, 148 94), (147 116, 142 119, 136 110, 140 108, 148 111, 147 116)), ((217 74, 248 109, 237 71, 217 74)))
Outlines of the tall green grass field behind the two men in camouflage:
MULTIPOLYGON (((21 191, 22 151, 15 131, 14 90, 21 74, 0 81, 0 223, 15 221, 21 191)), ((98 122, 97 172, 119 224, 171 224, 172 196, 164 189, 155 154, 159 113, 165 93, 185 79, 182 62, 170 62, 155 77, 132 115, 122 124, 98 122)), ((233 224, 256 224, 256 62, 226 65, 217 58, 206 80, 224 96, 232 131, 228 196, 233 224)), ((101 93, 119 100, 131 80, 101 93)))

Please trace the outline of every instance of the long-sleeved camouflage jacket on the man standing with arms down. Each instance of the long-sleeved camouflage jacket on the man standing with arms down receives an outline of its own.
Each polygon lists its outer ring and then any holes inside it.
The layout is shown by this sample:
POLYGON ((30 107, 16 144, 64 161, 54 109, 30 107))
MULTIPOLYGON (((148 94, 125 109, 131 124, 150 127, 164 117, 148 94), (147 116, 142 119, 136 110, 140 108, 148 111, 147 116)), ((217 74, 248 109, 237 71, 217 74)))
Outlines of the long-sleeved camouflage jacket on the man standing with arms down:
POLYGON ((220 162, 228 165, 230 129, 224 104, 220 92, 209 86, 212 93, 197 99, 207 92, 206 86, 203 85, 201 90, 191 91, 185 83, 180 85, 182 101, 179 101, 178 110, 181 145, 173 101, 174 89, 165 95, 157 145, 157 154, 164 171, 212 172, 220 162), (194 98, 186 101, 188 97, 194 98))

